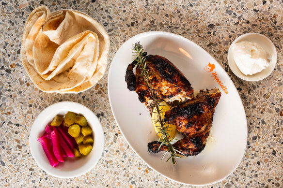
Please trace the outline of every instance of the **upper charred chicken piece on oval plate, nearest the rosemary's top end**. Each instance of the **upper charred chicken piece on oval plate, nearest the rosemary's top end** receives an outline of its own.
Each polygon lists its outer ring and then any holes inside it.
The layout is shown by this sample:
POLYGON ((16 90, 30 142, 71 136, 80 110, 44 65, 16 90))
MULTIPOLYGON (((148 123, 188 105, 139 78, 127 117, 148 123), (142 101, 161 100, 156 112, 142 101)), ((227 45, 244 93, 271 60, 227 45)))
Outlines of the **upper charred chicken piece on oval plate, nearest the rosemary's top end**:
MULTIPOLYGON (((158 55, 148 55, 146 62, 147 69, 152 73, 150 79, 158 99, 171 102, 184 101, 193 97, 193 89, 189 81, 168 59, 158 55)), ((136 91, 139 100, 149 107, 152 101, 150 90, 145 86, 144 78, 140 76, 141 69, 136 69, 134 74, 133 69, 136 63, 137 61, 134 60, 127 67, 125 76, 127 88, 130 91, 136 91)))

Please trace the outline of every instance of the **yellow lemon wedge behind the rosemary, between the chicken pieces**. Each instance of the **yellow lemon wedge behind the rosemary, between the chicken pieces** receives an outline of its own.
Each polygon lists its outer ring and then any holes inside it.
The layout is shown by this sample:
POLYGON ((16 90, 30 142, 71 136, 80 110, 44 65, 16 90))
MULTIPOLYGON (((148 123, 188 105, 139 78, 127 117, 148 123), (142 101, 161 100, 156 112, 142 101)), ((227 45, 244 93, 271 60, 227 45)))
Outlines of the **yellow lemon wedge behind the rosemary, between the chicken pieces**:
MULTIPOLYGON (((162 119, 164 119, 165 116, 165 112, 170 110, 170 105, 165 102, 162 101, 159 103, 159 111, 161 112, 161 117, 162 119)), ((159 131, 160 127, 160 123, 157 121, 158 119, 158 114, 157 114, 157 108, 155 107, 152 111, 152 115, 151 115, 151 119, 152 119, 152 123, 153 123, 153 127, 155 132, 157 133, 158 138, 160 138, 162 135, 162 133, 159 131)), ((176 126, 172 125, 172 124, 165 124, 165 126, 168 126, 168 133, 170 134, 169 138, 173 139, 176 135, 176 126)))

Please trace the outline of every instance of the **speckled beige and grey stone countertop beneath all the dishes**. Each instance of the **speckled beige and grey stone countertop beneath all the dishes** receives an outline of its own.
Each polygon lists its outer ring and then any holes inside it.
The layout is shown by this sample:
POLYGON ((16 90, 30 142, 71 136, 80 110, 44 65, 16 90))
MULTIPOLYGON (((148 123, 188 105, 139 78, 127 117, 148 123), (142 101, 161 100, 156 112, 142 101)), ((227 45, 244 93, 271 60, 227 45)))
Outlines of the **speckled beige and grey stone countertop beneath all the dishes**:
POLYGON ((283 0, 0 0, 0 187, 189 187, 149 168, 126 143, 112 116, 107 78, 111 60, 130 37, 145 31, 184 36, 209 52, 233 80, 248 121, 244 158, 225 180, 207 187, 283 187, 283 0), (110 36, 105 76, 79 94, 44 93, 20 59, 21 35, 31 11, 76 9, 104 25, 110 36), (248 82, 229 69, 227 51, 237 36, 256 32, 276 46, 277 65, 266 79, 248 82), (105 148, 98 164, 72 179, 53 177, 35 163, 29 132, 36 116, 58 101, 79 102, 100 119, 105 148))

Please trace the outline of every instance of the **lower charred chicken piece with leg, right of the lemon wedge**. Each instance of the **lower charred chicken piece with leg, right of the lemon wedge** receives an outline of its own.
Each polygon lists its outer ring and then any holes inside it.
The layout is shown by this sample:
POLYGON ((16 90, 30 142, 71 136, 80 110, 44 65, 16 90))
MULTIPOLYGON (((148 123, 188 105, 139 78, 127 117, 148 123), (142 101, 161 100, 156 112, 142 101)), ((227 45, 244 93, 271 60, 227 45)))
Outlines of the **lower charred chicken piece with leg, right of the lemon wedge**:
MULTIPOLYGON (((215 107, 220 100, 219 89, 211 89, 197 94, 196 98, 186 101, 165 113, 164 121, 176 125, 185 138, 173 144, 185 156, 198 155, 206 144, 211 128, 215 107)), ((148 151, 158 153, 168 150, 157 141, 148 143, 148 151)))

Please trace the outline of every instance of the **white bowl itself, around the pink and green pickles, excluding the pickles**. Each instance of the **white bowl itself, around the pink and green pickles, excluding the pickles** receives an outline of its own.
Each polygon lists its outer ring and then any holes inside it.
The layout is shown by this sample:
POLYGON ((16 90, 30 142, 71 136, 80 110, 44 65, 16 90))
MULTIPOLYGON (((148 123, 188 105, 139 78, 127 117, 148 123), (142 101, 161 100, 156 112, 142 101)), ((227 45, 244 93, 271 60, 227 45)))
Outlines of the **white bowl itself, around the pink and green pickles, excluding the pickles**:
POLYGON ((31 155, 42 170, 56 177, 72 178, 90 171, 100 159, 104 147, 104 132, 99 119, 93 111, 77 102, 58 102, 48 106, 35 119, 30 132, 31 155), (65 158, 56 167, 52 167, 46 157, 42 145, 37 141, 44 132, 46 125, 56 115, 65 115, 68 111, 85 116, 94 134, 94 147, 91 153, 83 158, 65 158))

